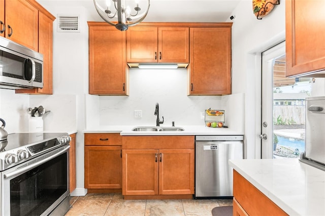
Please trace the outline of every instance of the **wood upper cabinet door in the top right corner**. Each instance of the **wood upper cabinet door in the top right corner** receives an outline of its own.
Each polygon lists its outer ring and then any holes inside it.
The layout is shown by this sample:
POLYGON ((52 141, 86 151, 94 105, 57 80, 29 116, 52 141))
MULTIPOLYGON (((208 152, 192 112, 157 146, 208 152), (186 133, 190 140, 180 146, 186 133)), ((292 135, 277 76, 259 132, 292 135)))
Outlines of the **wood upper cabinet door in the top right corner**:
POLYGON ((285 1, 286 76, 325 69, 324 11, 321 0, 285 1))

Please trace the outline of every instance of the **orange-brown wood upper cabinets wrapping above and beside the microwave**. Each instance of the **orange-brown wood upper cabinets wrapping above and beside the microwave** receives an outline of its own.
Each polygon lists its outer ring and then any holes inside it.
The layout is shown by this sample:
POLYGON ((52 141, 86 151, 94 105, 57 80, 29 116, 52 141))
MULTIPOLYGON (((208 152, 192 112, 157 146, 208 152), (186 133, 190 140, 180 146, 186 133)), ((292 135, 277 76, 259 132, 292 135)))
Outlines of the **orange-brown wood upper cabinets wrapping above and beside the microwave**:
POLYGON ((43 54, 43 88, 16 93, 51 95, 55 17, 34 0, 0 0, 0 6, 0 35, 43 54))

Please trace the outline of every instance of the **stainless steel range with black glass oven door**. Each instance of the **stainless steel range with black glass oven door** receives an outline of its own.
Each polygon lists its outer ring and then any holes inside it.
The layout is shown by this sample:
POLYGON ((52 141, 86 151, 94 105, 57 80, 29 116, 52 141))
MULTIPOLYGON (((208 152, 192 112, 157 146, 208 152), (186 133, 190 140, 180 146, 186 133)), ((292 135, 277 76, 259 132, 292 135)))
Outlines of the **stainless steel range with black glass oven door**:
POLYGON ((70 140, 66 133, 8 135, 0 152, 0 215, 64 215, 69 210, 70 140))

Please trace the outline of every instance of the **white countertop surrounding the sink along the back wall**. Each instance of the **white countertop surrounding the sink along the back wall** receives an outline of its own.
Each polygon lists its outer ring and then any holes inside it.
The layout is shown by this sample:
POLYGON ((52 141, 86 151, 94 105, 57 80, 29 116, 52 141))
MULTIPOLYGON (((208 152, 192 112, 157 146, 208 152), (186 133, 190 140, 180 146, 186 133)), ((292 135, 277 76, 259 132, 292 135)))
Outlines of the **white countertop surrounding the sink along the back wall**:
MULTIPOLYGON (((141 125, 149 126, 149 125, 141 125)), ((152 126, 152 125, 151 125, 152 126)), ((165 126, 165 125, 161 125, 165 126)), ((184 128, 184 131, 175 132, 153 132, 132 131, 135 125, 114 125, 99 126, 96 128, 87 128, 83 133, 120 133, 121 136, 185 136, 185 135, 243 135, 243 132, 225 127, 206 127, 203 125, 177 125, 184 128)))

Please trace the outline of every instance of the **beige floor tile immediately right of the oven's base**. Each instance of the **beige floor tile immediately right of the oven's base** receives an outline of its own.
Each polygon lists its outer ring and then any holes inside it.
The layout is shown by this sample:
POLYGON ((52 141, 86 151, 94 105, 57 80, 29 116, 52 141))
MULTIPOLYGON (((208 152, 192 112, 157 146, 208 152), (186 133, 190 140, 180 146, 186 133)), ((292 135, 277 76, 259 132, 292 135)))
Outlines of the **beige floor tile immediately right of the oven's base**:
POLYGON ((103 216, 110 202, 105 199, 77 199, 66 216, 103 216))

